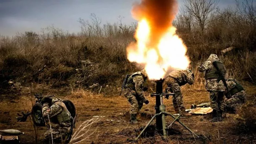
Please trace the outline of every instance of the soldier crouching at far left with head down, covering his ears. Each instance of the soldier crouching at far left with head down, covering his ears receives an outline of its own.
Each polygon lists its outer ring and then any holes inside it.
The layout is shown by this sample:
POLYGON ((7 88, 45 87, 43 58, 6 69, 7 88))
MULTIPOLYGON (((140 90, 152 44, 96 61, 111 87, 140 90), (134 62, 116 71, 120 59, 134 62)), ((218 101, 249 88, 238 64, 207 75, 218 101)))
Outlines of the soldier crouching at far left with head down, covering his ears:
POLYGON ((60 142, 60 140, 63 140, 65 142, 70 134, 73 122, 70 112, 60 98, 45 96, 42 98, 41 103, 43 104, 43 118, 48 127, 48 130, 44 133, 44 140, 49 142, 49 139, 52 139, 53 136, 54 141, 60 142), (50 129, 48 116, 52 130, 50 129))

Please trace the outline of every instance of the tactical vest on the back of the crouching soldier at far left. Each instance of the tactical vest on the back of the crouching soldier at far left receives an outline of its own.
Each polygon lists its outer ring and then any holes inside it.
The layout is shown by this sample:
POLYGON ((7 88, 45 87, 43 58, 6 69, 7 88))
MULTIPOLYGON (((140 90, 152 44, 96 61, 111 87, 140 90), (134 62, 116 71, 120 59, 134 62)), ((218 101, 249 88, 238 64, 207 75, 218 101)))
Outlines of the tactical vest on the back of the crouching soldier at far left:
POLYGON ((58 119, 58 122, 59 123, 62 123, 62 122, 71 122, 71 114, 70 112, 68 111, 68 109, 66 108, 65 104, 61 101, 57 101, 55 102, 58 106, 60 106, 62 108, 62 112, 57 114, 57 119, 58 119))

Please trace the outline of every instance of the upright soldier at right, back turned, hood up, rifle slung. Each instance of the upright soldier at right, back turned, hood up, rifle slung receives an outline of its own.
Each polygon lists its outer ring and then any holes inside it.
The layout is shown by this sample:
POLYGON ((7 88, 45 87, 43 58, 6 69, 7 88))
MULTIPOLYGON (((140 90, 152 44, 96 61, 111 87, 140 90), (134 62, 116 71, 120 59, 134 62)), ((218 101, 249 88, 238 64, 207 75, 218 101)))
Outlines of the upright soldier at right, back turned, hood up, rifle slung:
POLYGON ((222 112, 224 111, 223 99, 225 86, 217 69, 219 69, 223 75, 226 74, 225 66, 216 54, 210 54, 207 61, 198 66, 198 71, 206 71, 206 89, 209 91, 210 107, 213 109, 213 119, 211 119, 210 122, 222 121, 222 112), (217 63, 218 68, 213 65, 213 62, 217 63))

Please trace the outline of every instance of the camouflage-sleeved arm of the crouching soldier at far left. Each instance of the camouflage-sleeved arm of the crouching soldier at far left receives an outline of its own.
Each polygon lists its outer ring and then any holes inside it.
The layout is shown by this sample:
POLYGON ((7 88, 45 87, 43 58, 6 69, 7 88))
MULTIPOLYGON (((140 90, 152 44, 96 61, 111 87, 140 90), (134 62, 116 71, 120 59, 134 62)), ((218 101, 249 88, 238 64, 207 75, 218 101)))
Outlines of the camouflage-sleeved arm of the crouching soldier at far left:
POLYGON ((42 112, 43 118, 48 118, 47 113, 49 114, 49 118, 56 116, 57 114, 61 113, 63 110, 59 105, 52 105, 49 107, 49 103, 44 103, 42 112))

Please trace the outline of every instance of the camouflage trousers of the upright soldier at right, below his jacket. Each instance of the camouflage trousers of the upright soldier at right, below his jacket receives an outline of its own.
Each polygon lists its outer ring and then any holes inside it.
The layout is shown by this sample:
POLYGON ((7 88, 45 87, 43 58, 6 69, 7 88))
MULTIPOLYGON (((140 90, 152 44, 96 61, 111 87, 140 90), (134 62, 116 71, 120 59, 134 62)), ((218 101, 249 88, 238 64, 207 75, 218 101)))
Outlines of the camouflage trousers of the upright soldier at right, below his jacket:
POLYGON ((224 92, 210 91, 210 107, 213 110, 224 111, 224 92))

